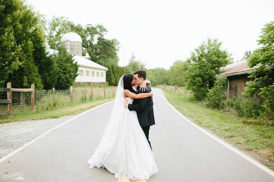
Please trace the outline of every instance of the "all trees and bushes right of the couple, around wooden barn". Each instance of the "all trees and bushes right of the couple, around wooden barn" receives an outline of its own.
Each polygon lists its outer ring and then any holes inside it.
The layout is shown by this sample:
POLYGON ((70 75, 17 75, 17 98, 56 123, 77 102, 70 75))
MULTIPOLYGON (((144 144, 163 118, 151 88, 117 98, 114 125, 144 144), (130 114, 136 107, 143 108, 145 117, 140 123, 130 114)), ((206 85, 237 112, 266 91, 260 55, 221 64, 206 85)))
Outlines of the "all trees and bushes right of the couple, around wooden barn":
MULTIPOLYGON (((232 108, 241 117, 259 124, 274 126, 274 22, 261 29, 257 40, 259 48, 246 51, 241 60, 247 60, 251 71, 244 88, 243 98, 227 98, 226 77, 219 75, 222 68, 233 62, 231 54, 222 50, 217 39, 207 39, 191 52, 185 61, 177 60, 170 69, 148 69, 147 78, 153 85, 185 86, 193 98, 213 109, 232 108), (256 100, 256 94, 258 100, 256 100)), ((139 67, 140 68, 140 67, 139 67)))

